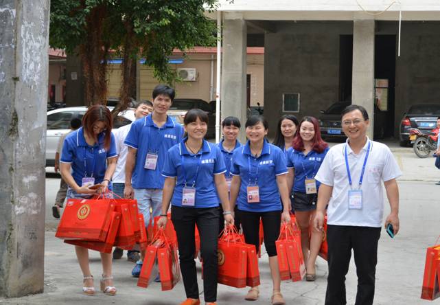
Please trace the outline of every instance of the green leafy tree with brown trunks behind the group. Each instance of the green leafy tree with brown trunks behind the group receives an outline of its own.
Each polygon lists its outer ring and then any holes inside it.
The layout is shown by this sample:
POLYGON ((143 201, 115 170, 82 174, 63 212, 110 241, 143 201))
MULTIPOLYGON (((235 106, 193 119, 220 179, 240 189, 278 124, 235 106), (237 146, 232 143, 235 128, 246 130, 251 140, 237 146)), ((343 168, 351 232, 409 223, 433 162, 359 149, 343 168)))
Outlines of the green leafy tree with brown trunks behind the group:
POLYGON ((216 43, 216 24, 205 16, 218 0, 51 0, 49 43, 82 58, 86 104, 106 103, 106 68, 111 52, 124 58, 120 102, 126 109, 135 87, 139 56, 154 77, 171 84, 174 49, 216 43))

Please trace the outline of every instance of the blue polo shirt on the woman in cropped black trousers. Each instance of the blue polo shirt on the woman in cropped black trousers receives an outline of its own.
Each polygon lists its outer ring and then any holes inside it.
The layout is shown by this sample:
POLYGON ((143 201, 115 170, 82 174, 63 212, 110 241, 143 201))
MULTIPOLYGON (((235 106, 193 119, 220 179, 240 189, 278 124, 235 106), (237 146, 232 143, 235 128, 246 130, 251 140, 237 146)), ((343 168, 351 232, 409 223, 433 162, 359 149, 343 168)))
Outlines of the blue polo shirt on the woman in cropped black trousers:
POLYGON ((286 174, 286 158, 283 150, 264 140, 262 154, 255 158, 249 142, 235 149, 232 155, 231 174, 241 178, 238 193, 238 209, 248 212, 270 212, 283 210, 279 195, 277 176, 286 174), (256 181, 255 181, 256 180, 256 181), (258 185, 259 203, 248 203, 248 185, 258 185))

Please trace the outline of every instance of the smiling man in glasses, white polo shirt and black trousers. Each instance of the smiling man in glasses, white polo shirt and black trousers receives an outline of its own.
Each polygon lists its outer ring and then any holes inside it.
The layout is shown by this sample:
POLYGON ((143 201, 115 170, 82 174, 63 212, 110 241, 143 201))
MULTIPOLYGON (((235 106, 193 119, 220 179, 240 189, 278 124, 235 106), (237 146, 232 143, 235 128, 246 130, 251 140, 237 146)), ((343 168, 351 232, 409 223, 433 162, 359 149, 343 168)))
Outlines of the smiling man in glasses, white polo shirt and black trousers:
POLYGON ((321 182, 314 228, 322 230, 327 209, 328 267, 326 305, 347 304, 345 275, 351 249, 358 275, 357 305, 373 304, 378 240, 382 227, 384 181, 391 213, 385 227, 399 231, 399 189, 402 172, 391 150, 367 137, 367 111, 352 104, 342 113, 347 142, 330 148, 316 174, 321 182))

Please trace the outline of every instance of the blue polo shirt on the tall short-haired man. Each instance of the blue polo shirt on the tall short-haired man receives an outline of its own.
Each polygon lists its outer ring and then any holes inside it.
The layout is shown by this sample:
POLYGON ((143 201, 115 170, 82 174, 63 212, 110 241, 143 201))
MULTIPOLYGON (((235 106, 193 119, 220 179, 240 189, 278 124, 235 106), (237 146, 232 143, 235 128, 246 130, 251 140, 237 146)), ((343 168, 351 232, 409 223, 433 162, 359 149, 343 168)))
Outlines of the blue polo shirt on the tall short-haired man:
POLYGON ((133 188, 163 189, 165 178, 161 172, 165 157, 168 150, 181 142, 182 138, 183 127, 170 116, 161 128, 154 124, 151 115, 132 123, 124 144, 137 149, 136 164, 131 178, 133 188), (156 170, 144 168, 148 153, 158 155, 156 170))

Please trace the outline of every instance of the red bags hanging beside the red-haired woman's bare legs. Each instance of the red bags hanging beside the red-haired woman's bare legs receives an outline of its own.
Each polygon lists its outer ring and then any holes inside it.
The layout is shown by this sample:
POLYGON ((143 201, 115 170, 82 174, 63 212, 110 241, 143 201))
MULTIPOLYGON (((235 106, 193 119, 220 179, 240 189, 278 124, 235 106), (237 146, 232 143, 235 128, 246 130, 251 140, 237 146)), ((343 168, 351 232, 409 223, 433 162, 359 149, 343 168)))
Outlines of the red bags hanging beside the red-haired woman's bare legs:
MULTIPOLYGON (((301 231, 299 231, 301 234, 301 231)), ((281 280, 297 282, 303 280, 305 276, 305 263, 301 238, 292 229, 292 223, 283 223, 278 240, 275 242, 277 247, 277 258, 279 274, 281 280)))

